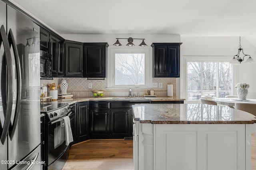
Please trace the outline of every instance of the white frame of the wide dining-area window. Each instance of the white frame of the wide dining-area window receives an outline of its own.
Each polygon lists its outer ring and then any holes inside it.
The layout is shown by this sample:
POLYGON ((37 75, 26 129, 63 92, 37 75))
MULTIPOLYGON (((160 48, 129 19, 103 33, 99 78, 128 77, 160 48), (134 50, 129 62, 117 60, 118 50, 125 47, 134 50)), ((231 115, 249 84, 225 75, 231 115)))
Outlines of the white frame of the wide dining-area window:
MULTIPOLYGON (((200 103, 200 100, 188 100, 188 62, 230 62, 233 56, 183 56, 183 66, 182 69, 184 71, 183 76, 183 82, 184 86, 182 87, 184 92, 184 98, 186 99, 186 103, 200 103)), ((235 83, 236 83, 236 75, 237 74, 237 66, 234 64, 231 64, 231 72, 232 72, 232 94, 235 94, 235 83)), ((218 78, 217 78, 217 84, 218 84, 218 78)))

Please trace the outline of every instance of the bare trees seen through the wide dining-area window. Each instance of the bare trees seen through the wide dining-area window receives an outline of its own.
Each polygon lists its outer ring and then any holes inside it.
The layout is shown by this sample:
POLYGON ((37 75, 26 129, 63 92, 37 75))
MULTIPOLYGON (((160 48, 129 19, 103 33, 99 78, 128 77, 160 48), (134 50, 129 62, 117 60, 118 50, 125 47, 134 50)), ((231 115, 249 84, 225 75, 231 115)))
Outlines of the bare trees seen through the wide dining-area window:
POLYGON ((188 62, 187 66, 188 100, 200 100, 202 95, 224 98, 231 94, 232 72, 229 63, 188 62))

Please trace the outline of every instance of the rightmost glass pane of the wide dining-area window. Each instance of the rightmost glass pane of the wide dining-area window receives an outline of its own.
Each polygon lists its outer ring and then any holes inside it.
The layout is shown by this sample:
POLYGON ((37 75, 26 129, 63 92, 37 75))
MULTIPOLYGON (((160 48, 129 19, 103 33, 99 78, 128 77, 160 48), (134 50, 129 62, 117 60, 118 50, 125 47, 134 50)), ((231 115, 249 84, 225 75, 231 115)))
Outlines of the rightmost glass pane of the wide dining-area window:
POLYGON ((229 63, 219 63, 219 97, 224 98, 231 95, 232 89, 231 65, 229 63))

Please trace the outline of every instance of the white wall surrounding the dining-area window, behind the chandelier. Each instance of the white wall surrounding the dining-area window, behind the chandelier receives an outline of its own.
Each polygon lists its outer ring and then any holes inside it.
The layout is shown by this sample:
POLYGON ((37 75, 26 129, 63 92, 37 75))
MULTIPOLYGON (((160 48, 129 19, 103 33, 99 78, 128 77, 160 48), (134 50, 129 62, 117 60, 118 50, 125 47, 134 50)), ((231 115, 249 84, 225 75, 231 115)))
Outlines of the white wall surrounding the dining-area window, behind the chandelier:
MULTIPOLYGON (((183 56, 230 56, 230 60, 238 53, 239 37, 187 37, 181 36, 181 63, 183 56)), ((250 55, 256 61, 256 47, 248 42, 244 37, 241 37, 241 46, 244 53, 250 55)), ((240 57, 243 55, 240 55, 240 57)), ((248 59, 248 57, 245 58, 248 59)), ((236 79, 238 82, 245 82, 250 84, 248 89, 248 98, 256 98, 256 62, 244 63, 236 65, 236 79)), ((181 97, 184 94, 184 67, 181 64, 181 97)))

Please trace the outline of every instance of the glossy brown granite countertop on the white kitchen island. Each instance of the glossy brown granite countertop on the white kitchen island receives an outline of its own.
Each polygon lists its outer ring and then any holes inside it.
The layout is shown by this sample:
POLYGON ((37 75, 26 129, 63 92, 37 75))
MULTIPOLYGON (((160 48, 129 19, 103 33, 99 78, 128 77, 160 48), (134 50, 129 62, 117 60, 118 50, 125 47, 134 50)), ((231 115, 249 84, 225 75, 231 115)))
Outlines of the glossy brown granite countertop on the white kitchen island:
POLYGON ((135 104, 134 120, 152 124, 253 124, 256 117, 226 106, 206 104, 135 104))

